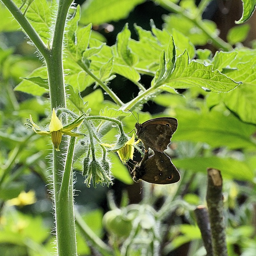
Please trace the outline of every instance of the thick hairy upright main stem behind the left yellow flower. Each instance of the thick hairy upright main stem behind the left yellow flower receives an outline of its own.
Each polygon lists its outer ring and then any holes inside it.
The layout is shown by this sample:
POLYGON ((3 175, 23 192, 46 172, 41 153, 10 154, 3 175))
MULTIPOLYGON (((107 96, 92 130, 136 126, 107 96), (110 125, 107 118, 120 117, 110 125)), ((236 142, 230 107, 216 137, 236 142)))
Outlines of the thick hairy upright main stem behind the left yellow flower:
MULTIPOLYGON (((51 54, 48 55, 46 66, 49 79, 49 91, 51 108, 66 108, 66 94, 64 83, 64 71, 62 61, 63 35, 66 24, 68 9, 72 1, 59 1, 56 24, 53 34, 51 54)), ((76 251, 76 230, 73 205, 73 180, 72 172, 69 174, 68 186, 60 186, 65 166, 65 155, 73 157, 69 151, 74 148, 69 147, 67 153, 67 137, 62 137, 60 151, 53 149, 53 191, 54 191, 54 209, 56 223, 57 249, 59 256, 77 256, 76 251), (69 154, 70 153, 70 154, 69 154)), ((70 139, 70 143, 72 143, 70 139)), ((71 161, 72 162, 72 161, 71 161)), ((72 163, 71 163, 72 164, 72 163)), ((72 168, 72 166, 70 167, 72 168)))

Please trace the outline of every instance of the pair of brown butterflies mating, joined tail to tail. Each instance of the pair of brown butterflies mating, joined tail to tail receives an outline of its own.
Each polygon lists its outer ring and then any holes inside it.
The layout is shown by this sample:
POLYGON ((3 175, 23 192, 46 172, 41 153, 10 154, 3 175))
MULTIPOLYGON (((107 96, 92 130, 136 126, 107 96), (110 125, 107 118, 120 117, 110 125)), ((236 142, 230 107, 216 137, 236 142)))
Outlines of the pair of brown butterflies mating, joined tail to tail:
POLYGON ((133 170, 133 180, 139 179, 155 184, 171 184, 180 180, 180 173, 172 164, 171 158, 164 153, 171 143, 172 134, 177 130, 178 121, 173 117, 158 117, 143 124, 135 124, 136 135, 142 140, 145 155, 133 170), (148 148, 154 151, 149 156, 148 148))

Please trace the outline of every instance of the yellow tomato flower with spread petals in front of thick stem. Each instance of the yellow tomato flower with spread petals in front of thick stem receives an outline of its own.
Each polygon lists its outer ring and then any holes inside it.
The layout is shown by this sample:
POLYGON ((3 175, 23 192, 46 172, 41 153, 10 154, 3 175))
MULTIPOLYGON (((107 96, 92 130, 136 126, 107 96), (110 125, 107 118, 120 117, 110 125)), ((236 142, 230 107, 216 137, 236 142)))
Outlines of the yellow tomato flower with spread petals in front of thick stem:
POLYGON ((62 125, 61 118, 59 119, 56 116, 55 109, 52 109, 52 118, 51 122, 49 124, 49 131, 44 131, 42 130, 38 125, 36 125, 32 121, 31 115, 29 115, 29 120, 28 120, 28 126, 33 129, 34 132, 36 132, 39 135, 49 135, 51 134, 52 137, 52 144, 56 151, 60 151, 60 142, 62 139, 62 134, 66 134, 69 136, 74 136, 74 137, 79 137, 83 136, 84 134, 81 133, 76 133, 76 132, 71 132, 74 128, 78 127, 80 124, 82 124, 84 121, 84 115, 79 116, 76 120, 74 120, 71 124, 62 125))

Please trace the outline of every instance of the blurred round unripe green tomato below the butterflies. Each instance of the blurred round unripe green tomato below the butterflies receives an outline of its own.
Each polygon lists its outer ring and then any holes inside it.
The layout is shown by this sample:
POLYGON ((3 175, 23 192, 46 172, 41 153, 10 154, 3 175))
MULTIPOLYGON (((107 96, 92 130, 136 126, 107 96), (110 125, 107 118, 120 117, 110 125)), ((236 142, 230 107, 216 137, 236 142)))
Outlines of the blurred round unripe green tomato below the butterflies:
POLYGON ((120 209, 107 212, 103 217, 103 225, 109 233, 118 237, 128 237, 132 231, 132 220, 122 214, 120 209))

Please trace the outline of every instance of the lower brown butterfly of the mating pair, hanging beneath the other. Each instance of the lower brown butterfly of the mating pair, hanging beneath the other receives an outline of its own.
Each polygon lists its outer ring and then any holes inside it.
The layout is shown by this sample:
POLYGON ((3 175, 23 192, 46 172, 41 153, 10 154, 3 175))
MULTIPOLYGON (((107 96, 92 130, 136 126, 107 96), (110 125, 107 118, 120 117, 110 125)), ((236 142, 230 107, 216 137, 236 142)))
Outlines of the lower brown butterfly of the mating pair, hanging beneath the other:
POLYGON ((135 166, 134 181, 139 179, 154 184, 172 184, 180 180, 180 173, 172 164, 170 157, 155 152, 139 166, 135 166))

